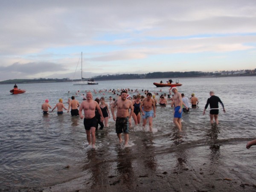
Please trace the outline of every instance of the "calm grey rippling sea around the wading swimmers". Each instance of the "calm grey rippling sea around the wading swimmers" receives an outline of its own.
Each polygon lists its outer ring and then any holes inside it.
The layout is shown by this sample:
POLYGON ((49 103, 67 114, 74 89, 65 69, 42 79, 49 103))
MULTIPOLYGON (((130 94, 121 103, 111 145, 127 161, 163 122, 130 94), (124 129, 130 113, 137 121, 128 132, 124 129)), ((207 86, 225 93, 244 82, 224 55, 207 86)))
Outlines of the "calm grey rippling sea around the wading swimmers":
POLYGON ((196 162, 202 157, 212 164, 229 166, 241 172, 245 181, 255 180, 256 146, 247 150, 245 145, 248 140, 256 138, 256 77, 179 79, 183 85, 178 87, 178 91, 189 98, 191 93, 195 93, 199 100, 198 108, 183 114, 182 138, 177 137, 177 128, 172 122, 173 108, 170 105, 158 106, 157 116, 153 119, 153 133, 147 129, 143 131, 140 125, 131 128, 127 155, 123 145, 118 144, 111 116, 109 128, 96 133, 93 161, 82 119, 71 117, 67 111, 57 115, 56 109, 44 116, 41 110, 45 99, 49 99, 49 104, 54 107, 62 98, 68 107, 67 99, 76 96, 78 90, 80 93, 76 99, 79 102, 83 99, 81 93, 93 89, 98 91, 93 93, 93 98, 104 96, 107 103, 109 96, 113 95, 108 92, 103 95, 99 90, 130 88, 138 89, 142 94, 142 90, 168 94, 169 88, 153 85, 153 82, 161 80, 168 79, 99 81, 99 85, 73 85, 70 82, 17 84, 18 88, 26 89, 26 93, 19 95, 9 93, 12 84, 0 85, 0 190, 50 186, 85 174, 88 180, 96 180, 96 184, 97 174, 106 177, 121 174, 123 169, 120 165, 127 160, 125 170, 133 174, 134 167, 140 166, 140 160, 145 160, 145 169, 157 172, 163 166, 172 166, 170 161, 180 161, 181 158, 196 162), (224 114, 220 110, 218 126, 210 125, 209 109, 207 115, 202 115, 210 90, 221 98, 227 111, 224 114), (193 148, 200 148, 198 154, 193 152, 193 148), (185 152, 179 154, 177 151, 185 152), (170 155, 170 159, 157 158, 157 154, 170 155))

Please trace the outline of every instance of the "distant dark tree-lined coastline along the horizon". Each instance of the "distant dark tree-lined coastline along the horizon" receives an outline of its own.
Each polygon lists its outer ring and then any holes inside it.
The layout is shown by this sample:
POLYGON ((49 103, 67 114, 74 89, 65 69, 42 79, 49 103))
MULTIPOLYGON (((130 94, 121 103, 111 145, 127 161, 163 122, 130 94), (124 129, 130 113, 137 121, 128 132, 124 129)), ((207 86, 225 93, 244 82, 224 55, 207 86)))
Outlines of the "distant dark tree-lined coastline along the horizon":
MULTIPOLYGON (((204 73, 204 72, 154 72, 146 74, 115 74, 94 76, 95 81, 109 80, 128 80, 128 79, 179 79, 179 78, 217 78, 217 77, 237 77, 237 76, 256 76, 255 70, 242 70, 242 73, 236 72, 221 72, 221 73, 204 73)), ((80 81, 80 79, 9 79, 0 81, 0 84, 26 84, 26 83, 56 83, 56 82, 72 82, 80 81)))

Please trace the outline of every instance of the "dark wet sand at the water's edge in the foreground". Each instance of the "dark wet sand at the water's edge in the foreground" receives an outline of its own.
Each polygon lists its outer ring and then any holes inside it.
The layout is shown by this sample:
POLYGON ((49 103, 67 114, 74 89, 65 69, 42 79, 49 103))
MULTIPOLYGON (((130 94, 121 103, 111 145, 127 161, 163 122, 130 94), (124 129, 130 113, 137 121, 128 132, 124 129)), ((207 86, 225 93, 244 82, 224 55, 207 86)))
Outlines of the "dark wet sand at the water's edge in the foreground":
MULTIPOLYGON (((145 140, 147 142, 150 140, 145 140)), ((215 142, 187 147, 187 144, 183 145, 178 140, 176 142, 180 145, 179 148, 158 148, 154 152, 155 147, 151 146, 148 151, 140 153, 136 151, 136 147, 123 149, 116 145, 117 158, 112 160, 101 159, 104 151, 87 151, 90 162, 81 168, 83 171, 79 177, 52 186, 20 191, 256 191, 255 179, 248 177, 246 173, 248 168, 234 166, 237 159, 229 157, 232 152, 221 154, 221 148, 224 152, 230 143, 215 142)), ((235 145, 238 148, 244 147, 244 143, 235 145)), ((70 166, 66 169, 73 168, 70 166)))

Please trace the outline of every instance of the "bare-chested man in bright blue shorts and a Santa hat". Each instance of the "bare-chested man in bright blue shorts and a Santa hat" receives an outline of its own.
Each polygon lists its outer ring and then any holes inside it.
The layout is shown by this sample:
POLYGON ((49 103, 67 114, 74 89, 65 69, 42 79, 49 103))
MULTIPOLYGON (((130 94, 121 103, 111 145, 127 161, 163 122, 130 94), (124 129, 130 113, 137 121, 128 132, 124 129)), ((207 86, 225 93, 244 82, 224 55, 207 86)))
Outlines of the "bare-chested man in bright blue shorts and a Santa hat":
POLYGON ((174 93, 173 96, 173 102, 174 102, 174 118, 173 118, 173 122, 174 124, 177 126, 177 128, 179 129, 179 131, 181 131, 181 117, 182 117, 182 97, 181 94, 178 92, 177 87, 172 87, 171 91, 174 93))

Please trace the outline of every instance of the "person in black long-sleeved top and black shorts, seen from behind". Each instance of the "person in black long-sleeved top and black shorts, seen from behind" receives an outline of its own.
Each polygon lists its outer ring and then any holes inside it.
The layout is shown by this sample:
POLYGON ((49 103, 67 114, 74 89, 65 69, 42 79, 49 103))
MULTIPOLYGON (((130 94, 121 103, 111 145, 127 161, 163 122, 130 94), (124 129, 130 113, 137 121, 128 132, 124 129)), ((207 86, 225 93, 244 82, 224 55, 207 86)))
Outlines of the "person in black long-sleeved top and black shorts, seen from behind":
POLYGON ((223 103, 221 102, 221 99, 217 96, 214 95, 213 91, 210 91, 210 97, 207 99, 207 103, 204 107, 204 112, 203 115, 205 115, 205 111, 208 107, 208 105, 210 105, 210 122, 213 123, 213 118, 215 120, 215 123, 218 125, 218 103, 221 104, 224 113, 226 113, 226 110, 224 108, 223 103))

